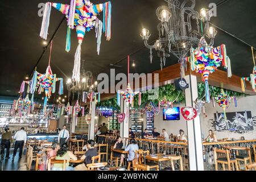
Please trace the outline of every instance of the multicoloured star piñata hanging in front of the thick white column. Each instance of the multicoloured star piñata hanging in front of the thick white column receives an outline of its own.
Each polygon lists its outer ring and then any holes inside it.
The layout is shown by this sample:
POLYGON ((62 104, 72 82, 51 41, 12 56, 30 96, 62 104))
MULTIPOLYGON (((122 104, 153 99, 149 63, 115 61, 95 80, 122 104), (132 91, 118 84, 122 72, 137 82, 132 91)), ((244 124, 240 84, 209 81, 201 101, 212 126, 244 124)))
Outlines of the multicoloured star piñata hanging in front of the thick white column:
POLYGON ((215 72, 222 65, 228 69, 228 77, 232 76, 230 60, 226 55, 226 46, 222 44, 219 47, 213 48, 212 46, 208 46, 205 38, 202 37, 199 47, 191 50, 189 62, 191 63, 192 71, 202 74, 202 80, 205 82, 205 100, 209 103, 209 74, 215 72))

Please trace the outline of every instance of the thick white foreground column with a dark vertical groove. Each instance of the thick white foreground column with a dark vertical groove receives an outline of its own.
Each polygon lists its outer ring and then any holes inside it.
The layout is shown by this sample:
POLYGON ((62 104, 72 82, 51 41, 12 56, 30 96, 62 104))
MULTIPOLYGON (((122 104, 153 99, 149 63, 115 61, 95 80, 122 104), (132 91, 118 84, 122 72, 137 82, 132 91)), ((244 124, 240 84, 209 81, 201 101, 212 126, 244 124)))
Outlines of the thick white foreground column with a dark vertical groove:
MULTIPOLYGON (((189 84, 189 88, 185 90, 185 104, 186 106, 195 107, 195 100, 198 97, 196 76, 185 76, 185 80, 189 84)), ((197 115, 193 121, 187 121, 187 132, 189 169, 191 171, 203 171, 204 159, 200 115, 197 115)))

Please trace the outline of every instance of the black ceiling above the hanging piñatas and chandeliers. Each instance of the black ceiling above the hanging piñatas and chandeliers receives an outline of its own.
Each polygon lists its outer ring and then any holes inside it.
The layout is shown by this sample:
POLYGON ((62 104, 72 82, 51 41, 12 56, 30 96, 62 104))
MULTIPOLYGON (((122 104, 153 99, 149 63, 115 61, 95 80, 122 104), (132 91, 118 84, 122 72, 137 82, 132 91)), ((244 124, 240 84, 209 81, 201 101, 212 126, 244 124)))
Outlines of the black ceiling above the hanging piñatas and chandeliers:
MULTIPOLYGON (((17 96, 20 83, 26 74, 31 74, 40 55, 43 52, 42 39, 39 31, 42 17, 38 16, 38 4, 40 0, 0 1, 1 17, 1 78, 0 95, 17 96)), ((68 3, 65 1, 53 1, 68 3)), ((102 3, 105 0, 92 1, 102 3)), ((255 0, 196 0, 196 10, 208 7, 209 3, 221 3, 217 7, 217 17, 212 18, 212 23, 225 31, 237 36, 256 47, 256 14, 255 0)), ((144 48, 139 33, 143 27, 151 32, 150 41, 158 38, 156 25, 158 19, 155 10, 164 5, 163 0, 126 0, 112 1, 112 39, 107 42, 102 37, 101 52, 97 55, 96 38, 94 30, 86 33, 82 44, 82 59, 85 60, 86 71, 92 71, 95 76, 98 73, 108 73, 109 64, 122 65, 116 68, 116 72, 126 73, 126 56, 131 55, 135 60, 136 67, 131 72, 150 73, 160 68, 158 57, 154 56, 150 64, 149 51, 144 48)), ((52 9, 49 24, 48 39, 51 38, 59 26, 63 15, 52 9)), ((100 19, 102 17, 100 16, 100 19)), ((53 51, 51 67, 53 73, 67 80, 72 76, 73 60, 77 47, 75 31, 72 32, 71 51, 65 52, 65 36, 67 25, 64 22, 53 39, 53 51)), ((253 69, 250 47, 238 41, 225 32, 218 30, 214 45, 226 44, 227 53, 232 61, 234 75, 249 76, 253 69)), ((155 52, 154 52, 155 53, 155 52)), ((40 60, 37 70, 44 73, 48 64, 49 49, 40 60)), ((167 59, 167 65, 175 64, 173 57, 167 59)))

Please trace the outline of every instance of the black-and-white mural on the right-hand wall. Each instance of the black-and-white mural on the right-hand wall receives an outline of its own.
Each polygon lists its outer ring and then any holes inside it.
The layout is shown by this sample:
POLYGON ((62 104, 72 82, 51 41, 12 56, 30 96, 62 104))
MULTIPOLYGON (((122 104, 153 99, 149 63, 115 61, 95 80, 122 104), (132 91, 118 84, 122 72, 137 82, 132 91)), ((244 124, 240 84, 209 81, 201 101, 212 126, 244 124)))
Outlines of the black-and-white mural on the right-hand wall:
POLYGON ((256 127, 256 116, 251 116, 251 111, 215 113, 210 123, 215 131, 230 131, 234 133, 248 133, 256 127))

